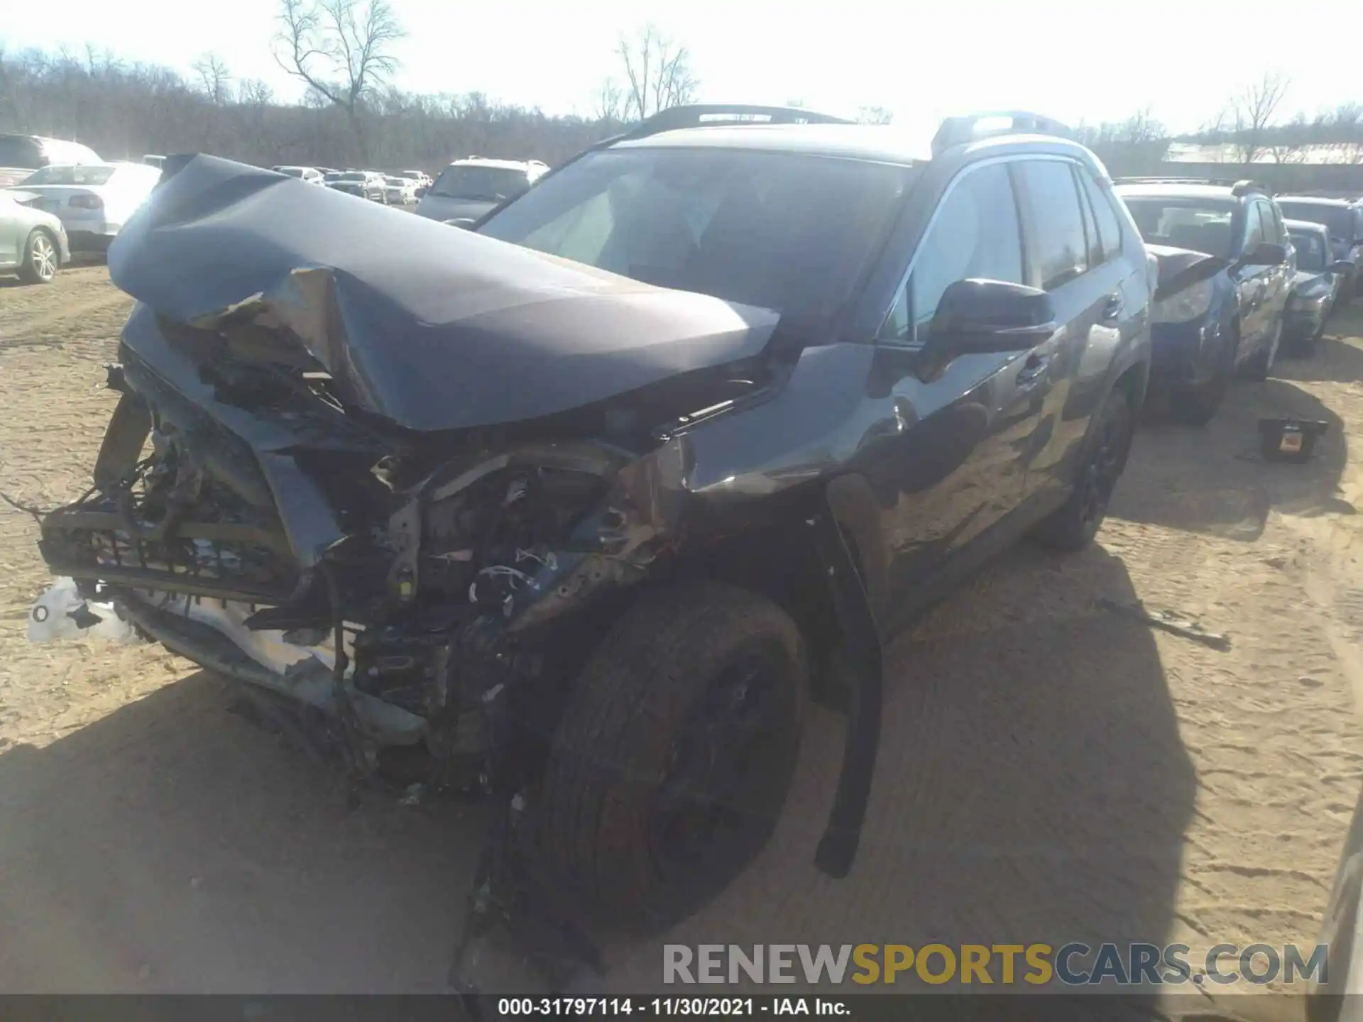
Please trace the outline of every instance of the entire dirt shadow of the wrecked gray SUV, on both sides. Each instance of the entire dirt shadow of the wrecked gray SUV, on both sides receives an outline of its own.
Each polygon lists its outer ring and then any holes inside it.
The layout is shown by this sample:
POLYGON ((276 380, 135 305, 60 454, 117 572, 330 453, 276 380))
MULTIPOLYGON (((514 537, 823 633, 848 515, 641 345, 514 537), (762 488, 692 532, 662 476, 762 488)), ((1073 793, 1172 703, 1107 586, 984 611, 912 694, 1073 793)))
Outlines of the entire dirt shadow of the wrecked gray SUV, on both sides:
MULTIPOLYGON (((887 651, 852 875, 812 864, 842 733, 815 710, 774 839, 667 940, 1163 943, 1193 769, 1150 634, 1097 597, 1134 597, 1099 548, 985 568, 887 651)), ((229 704, 199 672, 0 748, 0 989, 442 988, 487 811, 348 811, 327 769, 229 704)), ((661 943, 609 943, 607 985, 662 989, 661 943)))

